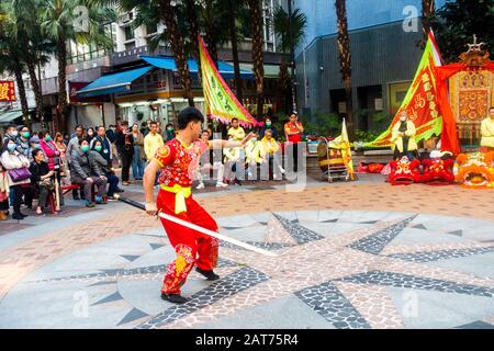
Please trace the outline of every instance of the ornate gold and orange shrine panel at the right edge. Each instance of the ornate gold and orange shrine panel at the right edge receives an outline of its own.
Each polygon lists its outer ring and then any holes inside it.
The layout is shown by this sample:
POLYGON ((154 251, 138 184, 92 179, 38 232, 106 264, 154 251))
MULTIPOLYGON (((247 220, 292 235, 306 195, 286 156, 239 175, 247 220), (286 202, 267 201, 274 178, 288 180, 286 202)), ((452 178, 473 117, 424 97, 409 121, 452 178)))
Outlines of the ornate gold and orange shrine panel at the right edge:
POLYGON ((449 99, 457 122, 462 148, 472 149, 481 139, 481 122, 494 104, 494 73, 484 67, 490 54, 482 49, 484 43, 468 44, 469 50, 460 55, 460 64, 468 66, 449 79, 449 99))

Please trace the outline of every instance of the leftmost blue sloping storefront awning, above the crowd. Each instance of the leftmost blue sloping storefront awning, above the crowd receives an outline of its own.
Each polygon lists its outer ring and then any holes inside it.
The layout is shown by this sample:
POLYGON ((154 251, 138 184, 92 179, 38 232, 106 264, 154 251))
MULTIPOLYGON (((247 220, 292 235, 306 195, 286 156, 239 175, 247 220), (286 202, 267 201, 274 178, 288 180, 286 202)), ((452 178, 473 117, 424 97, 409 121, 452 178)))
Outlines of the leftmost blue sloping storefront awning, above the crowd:
POLYGON ((76 94, 82 98, 89 98, 130 90, 134 80, 146 75, 153 68, 153 66, 146 66, 123 72, 101 76, 92 83, 77 91, 76 94))

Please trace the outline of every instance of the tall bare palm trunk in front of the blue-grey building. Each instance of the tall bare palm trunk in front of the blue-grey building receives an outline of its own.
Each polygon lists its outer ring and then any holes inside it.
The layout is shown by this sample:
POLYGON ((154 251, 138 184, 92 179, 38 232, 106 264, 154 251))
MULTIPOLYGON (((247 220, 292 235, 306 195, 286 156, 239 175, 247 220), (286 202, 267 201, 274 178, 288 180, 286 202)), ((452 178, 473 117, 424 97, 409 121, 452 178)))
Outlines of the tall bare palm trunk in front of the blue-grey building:
POLYGON ((347 103, 347 128, 348 136, 353 139, 353 104, 351 100, 351 53, 350 53, 350 36, 348 35, 347 23, 347 7, 346 0, 335 0, 336 18, 338 24, 338 60, 339 71, 345 88, 346 103, 347 103))

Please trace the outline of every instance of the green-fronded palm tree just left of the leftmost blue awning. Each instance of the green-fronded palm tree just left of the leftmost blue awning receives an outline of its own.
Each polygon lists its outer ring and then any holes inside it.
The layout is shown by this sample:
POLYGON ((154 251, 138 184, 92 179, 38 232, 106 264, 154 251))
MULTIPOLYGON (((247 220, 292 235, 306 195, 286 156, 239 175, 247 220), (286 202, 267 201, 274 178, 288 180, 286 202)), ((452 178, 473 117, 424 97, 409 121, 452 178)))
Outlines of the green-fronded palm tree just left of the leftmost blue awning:
POLYGON ((115 20, 115 13, 111 8, 103 7, 104 1, 99 0, 43 0, 41 11, 42 30, 56 44, 58 60, 58 105, 57 117, 61 129, 67 129, 67 44, 70 41, 80 44, 96 44, 104 49, 112 50, 112 38, 105 34, 104 24, 115 20), (74 25, 77 7, 86 7, 87 32, 78 31, 74 25))

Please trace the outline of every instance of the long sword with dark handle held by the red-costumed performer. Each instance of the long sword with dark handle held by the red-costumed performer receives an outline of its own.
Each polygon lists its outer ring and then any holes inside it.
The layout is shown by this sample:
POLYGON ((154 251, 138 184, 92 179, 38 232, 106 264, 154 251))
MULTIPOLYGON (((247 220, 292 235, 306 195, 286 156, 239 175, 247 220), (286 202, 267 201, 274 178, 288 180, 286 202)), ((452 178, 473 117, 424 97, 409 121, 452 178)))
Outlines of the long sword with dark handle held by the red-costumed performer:
MULTIPOLYGON (((131 205, 131 206, 134 206, 134 207, 136 207, 136 208, 146 211, 146 207, 145 207, 143 204, 141 204, 141 203, 138 203, 138 202, 136 202, 136 201, 134 201, 134 200, 131 200, 131 199, 127 199, 127 197, 120 196, 119 194, 114 194, 114 197, 115 197, 116 200, 123 202, 123 203, 126 203, 127 205, 131 205)), ((173 222, 173 223, 176 223, 176 224, 178 224, 178 225, 181 225, 181 226, 183 226, 183 227, 187 227, 187 228, 189 228, 189 229, 193 229, 193 230, 195 230, 195 231, 205 234, 205 235, 207 235, 207 236, 210 236, 210 237, 213 237, 213 238, 216 238, 216 239, 220 239, 220 240, 223 240, 223 241, 226 241, 226 242, 229 242, 229 244, 239 246, 239 247, 242 247, 242 248, 244 248, 244 249, 247 249, 247 250, 250 250, 250 251, 255 251, 255 252, 258 252, 258 253, 261 253, 261 254, 265 254, 265 256, 278 257, 278 254, 276 254, 274 252, 263 250, 263 249, 261 249, 261 248, 255 247, 255 246, 249 245, 249 244, 247 244, 247 242, 244 242, 244 241, 240 241, 240 240, 237 240, 237 239, 227 237, 227 236, 225 236, 225 235, 223 235, 223 234, 220 234, 220 233, 216 233, 216 231, 213 231, 213 230, 203 228, 203 227, 201 227, 201 226, 198 226, 198 225, 192 224, 192 223, 189 223, 189 222, 187 222, 187 220, 177 218, 177 217, 175 217, 175 216, 170 216, 170 215, 168 215, 168 214, 166 214, 166 213, 159 212, 159 213, 158 213, 158 216, 161 217, 161 218, 164 218, 164 219, 173 222)))

